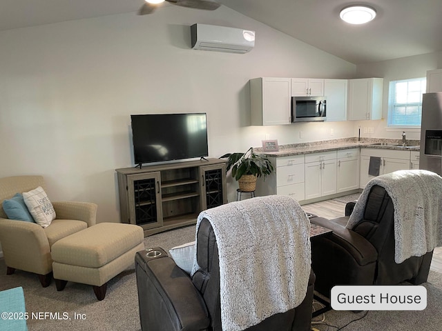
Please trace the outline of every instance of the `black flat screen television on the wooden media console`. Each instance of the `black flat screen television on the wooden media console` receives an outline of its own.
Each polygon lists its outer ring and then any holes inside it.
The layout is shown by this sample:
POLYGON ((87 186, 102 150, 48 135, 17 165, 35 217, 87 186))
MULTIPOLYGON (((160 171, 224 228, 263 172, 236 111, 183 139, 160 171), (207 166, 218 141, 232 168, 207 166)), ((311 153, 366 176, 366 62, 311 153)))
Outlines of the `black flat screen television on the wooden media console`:
POLYGON ((206 113, 131 115, 136 165, 209 156, 206 113))

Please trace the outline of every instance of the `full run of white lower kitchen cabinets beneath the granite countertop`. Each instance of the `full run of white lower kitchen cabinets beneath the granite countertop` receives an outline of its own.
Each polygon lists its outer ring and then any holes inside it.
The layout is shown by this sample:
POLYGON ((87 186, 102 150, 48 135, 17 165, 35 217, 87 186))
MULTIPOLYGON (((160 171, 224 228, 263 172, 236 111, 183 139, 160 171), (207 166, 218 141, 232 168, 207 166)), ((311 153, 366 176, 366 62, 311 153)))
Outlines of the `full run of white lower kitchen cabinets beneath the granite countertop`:
POLYGON ((410 150, 348 148, 268 157, 276 171, 265 181, 258 181, 256 195, 290 195, 300 203, 330 199, 363 189, 374 178, 368 174, 370 157, 381 158, 379 174, 419 169, 419 152, 410 150))

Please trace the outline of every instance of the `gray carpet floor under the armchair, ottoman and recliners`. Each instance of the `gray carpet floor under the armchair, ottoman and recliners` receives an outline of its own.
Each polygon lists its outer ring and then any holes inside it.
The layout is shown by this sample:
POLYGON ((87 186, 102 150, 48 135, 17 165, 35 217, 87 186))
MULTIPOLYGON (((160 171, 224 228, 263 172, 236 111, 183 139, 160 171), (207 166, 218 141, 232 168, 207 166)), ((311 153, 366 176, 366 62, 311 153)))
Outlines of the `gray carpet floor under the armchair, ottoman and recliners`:
MULTIPOLYGON (((144 239, 146 248, 160 246, 166 251, 175 245, 195 240, 195 226, 180 228, 144 239)), ((430 272, 427 288, 427 308, 423 311, 368 312, 367 316, 351 323, 343 330, 441 330, 442 314, 442 274, 430 272)), ((108 283, 106 298, 97 301, 93 290, 88 285, 69 282, 66 288, 57 292, 55 283, 48 288, 41 288, 37 276, 17 270, 12 276, 6 276, 6 265, 0 259, 0 290, 23 286, 26 310, 31 314, 37 312, 55 313, 59 319, 29 319, 28 328, 34 330, 140 330, 138 312, 137 285, 135 271, 132 268, 122 272, 108 283), (63 319, 68 313, 70 320, 63 319), (75 319, 75 314, 84 314, 86 319, 75 319)), ((363 313, 330 311, 325 314, 325 322, 342 327, 349 321, 361 317, 363 313)), ((317 318, 318 319, 318 318, 317 318)), ((336 330, 325 324, 312 325, 318 330, 336 330)), ((2 330, 3 331, 3 330, 2 330)), ((8 330, 6 330, 8 331, 8 330)), ((155 330, 161 331, 161 330, 155 330)), ((168 330, 164 330, 168 331, 168 330)))

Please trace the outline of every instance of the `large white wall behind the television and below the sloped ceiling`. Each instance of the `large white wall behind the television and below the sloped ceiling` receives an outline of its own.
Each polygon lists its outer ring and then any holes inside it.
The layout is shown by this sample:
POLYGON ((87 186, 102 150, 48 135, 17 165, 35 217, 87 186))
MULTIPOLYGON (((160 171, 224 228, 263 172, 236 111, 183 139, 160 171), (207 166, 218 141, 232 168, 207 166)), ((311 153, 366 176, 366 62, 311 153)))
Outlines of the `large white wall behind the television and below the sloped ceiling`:
POLYGON ((133 166, 130 114, 207 112, 209 154, 352 137, 350 123, 249 127, 253 77, 354 77, 356 66, 222 6, 165 6, 0 32, 0 176, 43 174, 52 200, 119 221, 115 168, 133 166), (248 54, 190 49, 193 23, 256 30, 248 54), (334 128, 334 136, 330 136, 334 128))

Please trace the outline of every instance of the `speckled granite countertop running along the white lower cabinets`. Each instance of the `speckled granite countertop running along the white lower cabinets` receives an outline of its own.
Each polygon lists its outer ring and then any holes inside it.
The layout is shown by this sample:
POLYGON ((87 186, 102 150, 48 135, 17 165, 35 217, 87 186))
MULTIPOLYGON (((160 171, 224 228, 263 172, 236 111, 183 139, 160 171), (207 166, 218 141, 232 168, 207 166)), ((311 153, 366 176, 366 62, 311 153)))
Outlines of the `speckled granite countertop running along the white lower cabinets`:
MULTIPOLYGON (((419 140, 407 140, 407 147, 394 146, 399 145, 401 141, 396 139, 361 139, 357 138, 343 138, 327 141, 314 141, 311 143, 294 143, 289 145, 279 146, 278 152, 263 152, 269 157, 290 157, 299 154, 310 154, 316 152, 328 152, 332 150, 347 150, 349 148, 381 148, 388 150, 414 150, 419 151, 419 140), (374 143, 381 143, 380 145, 373 145, 374 143)), ((255 152, 262 152, 262 148, 253 148, 255 152)))

